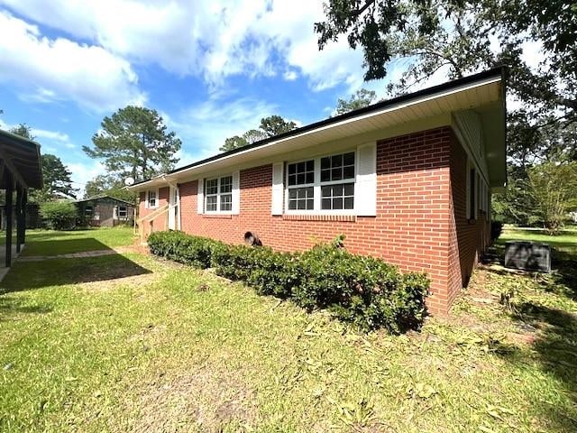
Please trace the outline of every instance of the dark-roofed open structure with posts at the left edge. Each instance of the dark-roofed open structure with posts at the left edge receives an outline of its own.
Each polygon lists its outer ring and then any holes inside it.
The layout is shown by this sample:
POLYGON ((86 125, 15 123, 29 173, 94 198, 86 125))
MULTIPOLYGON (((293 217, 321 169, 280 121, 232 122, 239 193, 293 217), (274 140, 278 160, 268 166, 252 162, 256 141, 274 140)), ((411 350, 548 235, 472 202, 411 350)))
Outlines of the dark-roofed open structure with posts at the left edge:
POLYGON ((3 207, 4 248, 0 248, 0 279, 4 277, 26 241, 28 189, 41 189, 40 144, 0 130, 0 189, 3 207))

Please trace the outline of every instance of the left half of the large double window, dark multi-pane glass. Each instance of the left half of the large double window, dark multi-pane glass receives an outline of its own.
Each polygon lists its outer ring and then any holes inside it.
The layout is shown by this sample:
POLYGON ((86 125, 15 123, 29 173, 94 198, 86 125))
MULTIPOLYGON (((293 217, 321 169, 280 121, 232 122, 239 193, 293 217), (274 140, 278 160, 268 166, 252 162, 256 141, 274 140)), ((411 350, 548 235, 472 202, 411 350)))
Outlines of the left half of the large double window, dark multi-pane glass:
POLYGON ((315 208, 315 160, 289 164, 289 209, 315 208))

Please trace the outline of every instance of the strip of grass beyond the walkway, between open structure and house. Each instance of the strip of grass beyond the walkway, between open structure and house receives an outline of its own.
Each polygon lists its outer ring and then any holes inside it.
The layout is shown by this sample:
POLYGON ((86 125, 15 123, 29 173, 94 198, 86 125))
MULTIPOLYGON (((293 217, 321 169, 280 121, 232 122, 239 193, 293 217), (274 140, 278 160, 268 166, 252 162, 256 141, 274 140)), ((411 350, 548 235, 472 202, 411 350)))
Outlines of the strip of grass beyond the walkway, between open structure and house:
POLYGON ((59 255, 81 251, 107 250, 133 244, 136 237, 132 227, 91 228, 57 232, 27 230, 23 256, 59 255))

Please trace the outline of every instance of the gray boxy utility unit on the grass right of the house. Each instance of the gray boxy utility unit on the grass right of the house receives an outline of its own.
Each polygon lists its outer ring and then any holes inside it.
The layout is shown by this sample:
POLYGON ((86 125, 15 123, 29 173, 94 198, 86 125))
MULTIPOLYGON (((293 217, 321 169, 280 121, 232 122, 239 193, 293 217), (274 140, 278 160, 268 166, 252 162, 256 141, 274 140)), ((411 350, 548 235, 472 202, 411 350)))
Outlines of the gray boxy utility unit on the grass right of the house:
POLYGON ((505 246, 505 267, 551 272, 551 247, 538 242, 509 241, 505 246))

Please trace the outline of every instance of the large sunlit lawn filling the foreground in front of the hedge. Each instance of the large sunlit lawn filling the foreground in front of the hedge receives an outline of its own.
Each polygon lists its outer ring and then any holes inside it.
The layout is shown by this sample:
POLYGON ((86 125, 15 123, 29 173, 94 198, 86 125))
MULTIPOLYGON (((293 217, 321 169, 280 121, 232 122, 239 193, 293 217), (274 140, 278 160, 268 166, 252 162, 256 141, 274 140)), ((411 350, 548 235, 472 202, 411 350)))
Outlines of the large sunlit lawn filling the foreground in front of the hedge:
POLYGON ((484 266, 403 336, 138 253, 15 263, 0 290, 0 431, 577 431, 562 273, 484 266))

